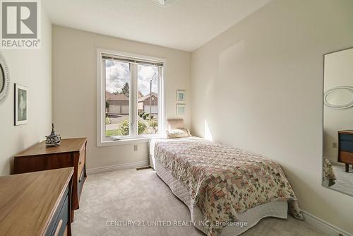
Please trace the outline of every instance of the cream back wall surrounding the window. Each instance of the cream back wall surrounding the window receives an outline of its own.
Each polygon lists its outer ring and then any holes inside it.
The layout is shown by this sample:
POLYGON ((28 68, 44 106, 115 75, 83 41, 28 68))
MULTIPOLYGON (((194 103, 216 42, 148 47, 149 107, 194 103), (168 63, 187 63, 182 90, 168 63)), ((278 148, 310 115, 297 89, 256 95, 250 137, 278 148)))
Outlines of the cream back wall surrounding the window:
MULTIPOLYGON (((53 119, 64 138, 88 137, 87 167, 148 161, 148 143, 97 147, 97 48, 167 59, 166 117, 176 117, 177 89, 189 93, 191 53, 53 25, 53 119)), ((186 95, 188 99, 188 95, 186 95)), ((191 101, 186 100, 186 126, 191 101)))

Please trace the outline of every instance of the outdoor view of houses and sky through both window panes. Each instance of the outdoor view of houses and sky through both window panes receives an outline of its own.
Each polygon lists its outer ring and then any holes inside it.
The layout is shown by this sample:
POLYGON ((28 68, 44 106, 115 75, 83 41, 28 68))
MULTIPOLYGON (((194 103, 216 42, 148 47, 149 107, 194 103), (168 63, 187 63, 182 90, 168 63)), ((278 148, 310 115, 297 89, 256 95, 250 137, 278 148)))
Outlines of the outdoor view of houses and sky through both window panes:
POLYGON ((158 66, 130 64, 124 61, 105 60, 105 136, 131 136, 157 134, 158 132, 158 66), (136 78, 131 78, 132 66, 136 66, 136 78), (133 93, 131 81, 137 88, 133 93), (132 94, 137 94, 135 100, 132 94), (133 105, 135 101, 137 104, 133 105), (136 117, 131 107, 137 110, 136 117), (133 128, 130 122, 136 123, 133 128))

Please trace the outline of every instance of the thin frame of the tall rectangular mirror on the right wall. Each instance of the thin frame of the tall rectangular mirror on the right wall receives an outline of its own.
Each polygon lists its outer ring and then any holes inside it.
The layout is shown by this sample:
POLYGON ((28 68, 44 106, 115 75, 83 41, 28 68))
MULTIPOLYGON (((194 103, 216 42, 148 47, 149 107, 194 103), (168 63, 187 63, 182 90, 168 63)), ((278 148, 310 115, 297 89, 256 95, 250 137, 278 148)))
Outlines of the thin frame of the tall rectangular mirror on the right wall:
POLYGON ((353 47, 347 47, 347 48, 344 48, 344 49, 337 50, 335 52, 328 52, 328 53, 323 54, 323 87, 322 87, 323 93, 322 93, 322 97, 321 97, 321 99, 322 99, 321 100, 321 105, 322 105, 322 110, 321 110, 321 112, 322 112, 322 119, 321 119, 321 122, 322 122, 322 124, 321 124, 322 125, 322 129, 321 129, 321 144, 322 144, 322 147, 321 147, 321 186, 324 187, 325 189, 330 189, 330 190, 333 190, 333 191, 337 191, 337 192, 339 192, 341 194, 345 194, 347 196, 352 196, 352 195, 348 194, 347 192, 345 192, 343 190, 341 191, 341 190, 338 190, 338 189, 332 189, 330 187, 326 187, 323 184, 323 181, 324 181, 323 180, 323 165, 324 165, 324 163, 323 163, 323 141, 324 141, 324 139, 323 139, 323 134, 324 134, 323 124, 324 124, 324 119, 325 119, 325 111, 324 111, 325 110, 325 95, 326 95, 326 92, 328 92, 328 91, 325 92, 325 56, 328 55, 328 54, 333 54, 333 53, 336 53, 336 52, 342 52, 342 51, 349 50, 349 49, 353 49, 353 47))

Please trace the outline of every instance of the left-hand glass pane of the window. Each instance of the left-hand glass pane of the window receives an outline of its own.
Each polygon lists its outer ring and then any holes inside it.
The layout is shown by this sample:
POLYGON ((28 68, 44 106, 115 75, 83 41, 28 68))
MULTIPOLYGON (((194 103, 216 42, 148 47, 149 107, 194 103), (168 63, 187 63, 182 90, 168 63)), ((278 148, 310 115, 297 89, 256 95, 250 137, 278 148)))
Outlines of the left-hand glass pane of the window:
POLYGON ((105 136, 130 135, 130 65, 105 60, 105 136))

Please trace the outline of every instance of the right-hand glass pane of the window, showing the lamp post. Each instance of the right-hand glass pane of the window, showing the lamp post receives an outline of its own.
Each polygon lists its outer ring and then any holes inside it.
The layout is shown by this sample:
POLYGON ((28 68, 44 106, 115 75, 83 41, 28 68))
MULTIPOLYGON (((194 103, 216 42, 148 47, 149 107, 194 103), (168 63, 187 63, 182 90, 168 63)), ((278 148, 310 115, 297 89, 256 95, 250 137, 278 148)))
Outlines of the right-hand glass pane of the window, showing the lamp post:
POLYGON ((138 134, 158 133, 158 67, 138 65, 138 134))

